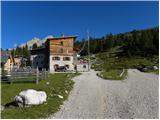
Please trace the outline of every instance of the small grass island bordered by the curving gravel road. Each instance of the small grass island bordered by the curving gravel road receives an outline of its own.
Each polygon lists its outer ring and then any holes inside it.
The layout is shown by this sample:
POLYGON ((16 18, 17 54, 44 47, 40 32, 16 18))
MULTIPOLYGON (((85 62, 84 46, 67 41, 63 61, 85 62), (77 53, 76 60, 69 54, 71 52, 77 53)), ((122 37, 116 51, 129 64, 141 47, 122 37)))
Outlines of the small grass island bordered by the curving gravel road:
POLYGON ((102 71, 99 74, 97 74, 99 77, 106 79, 106 80, 124 80, 127 76, 127 70, 124 70, 122 76, 120 74, 123 72, 123 70, 109 70, 109 71, 102 71))

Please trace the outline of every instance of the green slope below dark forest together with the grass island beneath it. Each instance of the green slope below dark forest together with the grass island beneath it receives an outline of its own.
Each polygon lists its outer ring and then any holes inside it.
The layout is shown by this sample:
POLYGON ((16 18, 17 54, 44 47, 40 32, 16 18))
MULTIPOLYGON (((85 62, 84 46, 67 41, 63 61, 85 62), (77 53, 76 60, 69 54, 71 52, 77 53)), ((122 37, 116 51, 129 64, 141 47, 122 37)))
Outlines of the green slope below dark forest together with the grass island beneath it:
POLYGON ((91 68, 95 71, 101 71, 99 77, 110 80, 123 80, 127 76, 127 70, 122 77, 119 77, 119 71, 122 69, 138 69, 146 67, 146 72, 159 74, 159 70, 153 70, 153 66, 159 66, 159 56, 152 57, 118 57, 115 54, 104 52, 96 55, 97 59, 91 68))

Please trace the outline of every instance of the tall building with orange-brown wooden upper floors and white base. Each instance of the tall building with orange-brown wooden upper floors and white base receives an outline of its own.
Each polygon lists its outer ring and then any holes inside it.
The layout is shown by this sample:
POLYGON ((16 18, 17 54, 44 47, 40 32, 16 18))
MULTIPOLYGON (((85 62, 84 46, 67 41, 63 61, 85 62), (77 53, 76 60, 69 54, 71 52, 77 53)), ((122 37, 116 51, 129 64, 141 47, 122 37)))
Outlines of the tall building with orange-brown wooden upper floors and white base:
POLYGON ((45 48, 31 50, 32 68, 46 68, 57 72, 59 68, 75 71, 77 68, 77 51, 74 40, 77 36, 48 38, 45 48))

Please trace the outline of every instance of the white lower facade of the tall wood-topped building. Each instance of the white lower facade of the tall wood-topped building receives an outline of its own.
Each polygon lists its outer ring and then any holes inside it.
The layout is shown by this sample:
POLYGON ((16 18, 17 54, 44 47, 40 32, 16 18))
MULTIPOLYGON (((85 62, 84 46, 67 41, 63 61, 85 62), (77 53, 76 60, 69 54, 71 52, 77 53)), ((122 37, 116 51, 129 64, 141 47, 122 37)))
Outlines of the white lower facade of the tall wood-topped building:
POLYGON ((50 55, 49 58, 49 69, 50 72, 55 72, 55 66, 68 66, 68 71, 74 71, 74 60, 73 56, 60 56, 60 55, 50 55), (55 57, 57 59, 55 59, 55 57), (64 57, 69 57, 69 60, 64 60, 64 57))

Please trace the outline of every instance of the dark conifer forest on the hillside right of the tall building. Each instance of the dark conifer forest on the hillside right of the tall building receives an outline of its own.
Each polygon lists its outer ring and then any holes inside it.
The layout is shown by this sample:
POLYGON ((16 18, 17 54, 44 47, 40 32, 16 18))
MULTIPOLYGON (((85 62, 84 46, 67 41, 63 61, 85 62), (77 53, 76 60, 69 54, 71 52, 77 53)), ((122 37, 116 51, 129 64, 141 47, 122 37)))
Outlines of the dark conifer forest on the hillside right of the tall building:
MULTIPOLYGON (((81 49, 85 43, 81 55, 88 54, 87 41, 76 41, 75 47, 81 49), (85 43, 86 42, 86 43, 85 43)), ((159 54, 159 29, 158 27, 145 30, 133 30, 127 33, 113 35, 107 34, 101 38, 90 37, 90 53, 106 52, 113 47, 120 46, 123 55, 126 56, 150 56, 159 54)))

